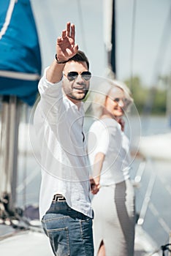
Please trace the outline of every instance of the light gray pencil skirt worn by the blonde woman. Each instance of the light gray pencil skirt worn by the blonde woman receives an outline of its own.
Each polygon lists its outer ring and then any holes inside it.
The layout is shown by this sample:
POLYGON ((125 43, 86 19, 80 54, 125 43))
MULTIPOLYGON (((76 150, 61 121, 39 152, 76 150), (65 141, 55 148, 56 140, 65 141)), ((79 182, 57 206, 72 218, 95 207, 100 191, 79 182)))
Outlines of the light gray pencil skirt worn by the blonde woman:
POLYGON ((95 256, 102 242, 106 256, 133 256, 135 209, 131 181, 101 187, 92 206, 95 256))

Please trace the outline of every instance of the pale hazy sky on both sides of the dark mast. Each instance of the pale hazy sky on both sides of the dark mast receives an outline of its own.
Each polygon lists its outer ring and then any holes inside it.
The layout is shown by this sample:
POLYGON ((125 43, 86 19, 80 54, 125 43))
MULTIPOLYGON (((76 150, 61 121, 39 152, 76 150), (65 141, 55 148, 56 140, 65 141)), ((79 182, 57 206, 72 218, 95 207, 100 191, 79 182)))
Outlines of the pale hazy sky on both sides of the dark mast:
MULTIPOLYGON (((104 37, 109 28, 104 26, 104 20, 107 20, 104 2, 107 1, 31 0, 39 33, 42 69, 53 60, 56 38, 65 29, 66 22, 71 21, 76 26, 76 42, 90 60, 91 72, 105 76, 107 52, 104 37)), ((159 74, 170 73, 170 8, 170 0, 115 0, 118 80, 138 75, 146 86, 153 86, 159 74)))

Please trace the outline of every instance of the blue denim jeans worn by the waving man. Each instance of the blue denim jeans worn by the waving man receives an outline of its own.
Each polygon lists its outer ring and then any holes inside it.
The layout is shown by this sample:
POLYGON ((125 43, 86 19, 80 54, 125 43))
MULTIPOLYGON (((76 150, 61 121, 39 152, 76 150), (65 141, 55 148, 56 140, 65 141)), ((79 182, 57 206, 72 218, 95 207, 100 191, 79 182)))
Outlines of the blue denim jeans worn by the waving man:
POLYGON ((92 219, 70 208, 66 202, 52 202, 42 218, 56 256, 94 256, 92 219))

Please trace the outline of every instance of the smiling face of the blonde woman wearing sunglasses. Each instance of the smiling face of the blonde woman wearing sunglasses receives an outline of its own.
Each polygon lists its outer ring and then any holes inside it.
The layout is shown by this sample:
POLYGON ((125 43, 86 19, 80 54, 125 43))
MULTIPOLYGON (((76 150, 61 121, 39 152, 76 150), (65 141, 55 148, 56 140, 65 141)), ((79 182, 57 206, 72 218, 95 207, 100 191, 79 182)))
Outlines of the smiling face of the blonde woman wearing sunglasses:
POLYGON ((105 111, 115 117, 123 116, 125 100, 125 95, 122 89, 118 87, 111 89, 105 100, 105 111))

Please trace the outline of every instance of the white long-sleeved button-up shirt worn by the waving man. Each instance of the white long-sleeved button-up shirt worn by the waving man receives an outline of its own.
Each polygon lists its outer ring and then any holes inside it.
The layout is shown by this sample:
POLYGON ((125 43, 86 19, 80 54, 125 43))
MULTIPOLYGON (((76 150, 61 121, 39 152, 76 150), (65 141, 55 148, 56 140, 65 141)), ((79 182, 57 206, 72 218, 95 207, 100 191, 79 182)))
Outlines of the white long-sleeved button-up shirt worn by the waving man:
POLYGON ((77 108, 62 93, 61 81, 47 81, 46 70, 39 81, 39 94, 34 126, 39 141, 37 159, 42 170, 40 219, 57 193, 64 195, 71 208, 92 217, 83 102, 77 108))

